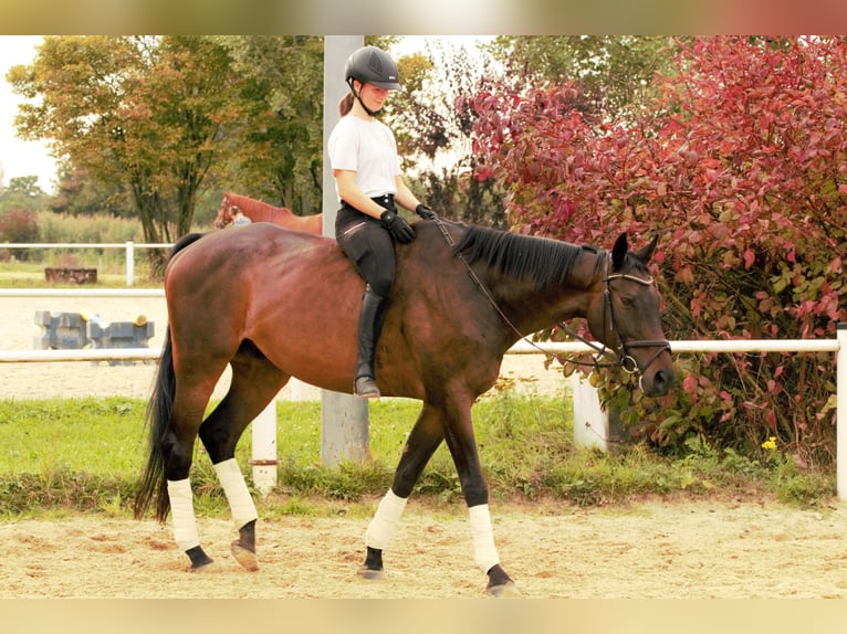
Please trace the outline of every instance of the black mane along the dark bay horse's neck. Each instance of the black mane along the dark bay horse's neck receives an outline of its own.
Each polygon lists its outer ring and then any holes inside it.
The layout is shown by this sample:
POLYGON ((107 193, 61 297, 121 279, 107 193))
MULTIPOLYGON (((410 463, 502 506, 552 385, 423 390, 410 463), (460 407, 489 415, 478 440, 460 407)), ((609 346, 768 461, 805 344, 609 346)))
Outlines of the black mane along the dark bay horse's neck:
MULTIPOLYGON (((469 264, 482 262, 505 275, 533 279, 538 287, 565 284, 579 255, 586 251, 599 252, 593 246, 475 225, 468 226, 454 249, 469 264)), ((595 266, 599 267, 603 260, 598 257, 595 266)))

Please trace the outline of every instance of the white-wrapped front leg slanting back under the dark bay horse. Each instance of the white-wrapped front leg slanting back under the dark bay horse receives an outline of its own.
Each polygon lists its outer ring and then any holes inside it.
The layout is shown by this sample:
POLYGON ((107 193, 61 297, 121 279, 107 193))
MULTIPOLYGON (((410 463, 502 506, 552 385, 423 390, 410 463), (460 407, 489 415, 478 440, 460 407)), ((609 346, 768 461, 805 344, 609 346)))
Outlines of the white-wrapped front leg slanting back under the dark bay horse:
POLYGON ((365 579, 378 579, 383 573, 383 550, 397 528, 406 508, 406 501, 418 482, 423 467, 443 440, 440 413, 423 404, 409 438, 402 448, 400 463, 394 474, 391 488, 379 503, 374 518, 365 532, 367 554, 359 574, 365 579))

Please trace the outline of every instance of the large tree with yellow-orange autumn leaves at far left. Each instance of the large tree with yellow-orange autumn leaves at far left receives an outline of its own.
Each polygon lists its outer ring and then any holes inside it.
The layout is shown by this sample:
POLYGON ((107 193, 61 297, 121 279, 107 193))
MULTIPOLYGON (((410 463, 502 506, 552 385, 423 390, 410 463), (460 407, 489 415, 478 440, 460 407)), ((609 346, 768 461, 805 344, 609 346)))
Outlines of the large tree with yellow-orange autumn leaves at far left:
POLYGON ((50 36, 7 78, 32 99, 19 134, 125 187, 150 242, 190 230, 203 180, 243 125, 243 77, 211 38, 50 36))

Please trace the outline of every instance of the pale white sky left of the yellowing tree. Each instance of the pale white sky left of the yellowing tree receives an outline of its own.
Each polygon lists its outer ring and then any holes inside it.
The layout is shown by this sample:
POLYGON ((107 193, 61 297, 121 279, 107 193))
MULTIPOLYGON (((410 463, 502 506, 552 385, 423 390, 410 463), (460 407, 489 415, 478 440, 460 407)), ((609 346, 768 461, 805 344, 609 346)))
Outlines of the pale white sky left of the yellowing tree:
POLYGON ((21 97, 12 93, 6 73, 18 64, 30 64, 41 35, 0 35, 0 165, 1 186, 10 179, 36 176, 39 187, 52 192, 56 178, 55 161, 41 141, 23 141, 14 135, 14 116, 21 97))

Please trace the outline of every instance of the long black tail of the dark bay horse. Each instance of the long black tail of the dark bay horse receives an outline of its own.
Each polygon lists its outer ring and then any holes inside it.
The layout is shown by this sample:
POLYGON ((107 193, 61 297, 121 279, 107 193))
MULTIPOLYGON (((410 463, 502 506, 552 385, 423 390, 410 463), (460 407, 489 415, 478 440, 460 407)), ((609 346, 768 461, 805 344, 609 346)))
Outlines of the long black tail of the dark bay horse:
MULTIPOLYGON (((174 245, 169 258, 189 244, 202 237, 201 233, 182 236, 174 245)), ((150 400, 147 403, 147 426, 149 427, 149 455, 147 466, 142 474, 138 492, 135 496, 135 517, 142 518, 156 501, 156 517, 164 521, 170 510, 168 483, 165 477, 166 448, 172 444, 171 415, 177 379, 174 372, 174 347, 170 339, 170 328, 165 328, 165 344, 159 357, 159 370, 154 383, 150 400)))

